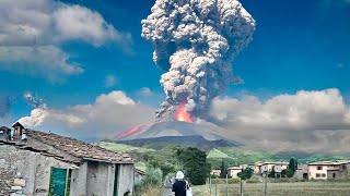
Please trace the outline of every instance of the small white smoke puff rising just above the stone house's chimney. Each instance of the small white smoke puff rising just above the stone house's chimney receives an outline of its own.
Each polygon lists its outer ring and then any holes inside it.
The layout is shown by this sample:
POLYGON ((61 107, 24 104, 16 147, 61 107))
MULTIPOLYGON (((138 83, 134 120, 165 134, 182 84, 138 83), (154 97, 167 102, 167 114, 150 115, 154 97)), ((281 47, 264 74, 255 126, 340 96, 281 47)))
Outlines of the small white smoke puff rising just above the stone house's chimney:
POLYGON ((25 93, 24 99, 32 105, 35 109, 31 111, 30 117, 23 117, 19 122, 23 126, 38 126, 42 125, 45 118, 49 114, 47 105, 42 98, 32 93, 25 93))

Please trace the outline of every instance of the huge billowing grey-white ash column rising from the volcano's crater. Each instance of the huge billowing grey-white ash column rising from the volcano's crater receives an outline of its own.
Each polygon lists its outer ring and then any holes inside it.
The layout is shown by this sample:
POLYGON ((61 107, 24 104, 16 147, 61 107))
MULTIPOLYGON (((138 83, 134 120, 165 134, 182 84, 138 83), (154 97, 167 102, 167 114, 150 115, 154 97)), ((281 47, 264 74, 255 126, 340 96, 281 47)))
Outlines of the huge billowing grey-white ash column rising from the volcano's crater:
POLYGON ((158 120, 184 102, 191 115, 206 119, 212 99, 234 82, 232 61, 252 40, 254 19, 237 0, 156 0, 151 12, 142 37, 166 71, 158 120))

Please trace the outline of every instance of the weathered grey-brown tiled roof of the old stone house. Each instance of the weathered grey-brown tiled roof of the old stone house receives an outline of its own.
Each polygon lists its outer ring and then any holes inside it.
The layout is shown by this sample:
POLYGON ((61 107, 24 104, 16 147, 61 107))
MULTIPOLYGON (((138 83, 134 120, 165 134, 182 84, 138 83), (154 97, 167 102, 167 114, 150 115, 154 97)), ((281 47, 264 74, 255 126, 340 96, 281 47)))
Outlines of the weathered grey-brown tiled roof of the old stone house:
POLYGON ((132 158, 128 154, 116 154, 74 138, 33 130, 26 130, 26 135, 28 139, 32 137, 77 158, 114 163, 133 163, 132 158))

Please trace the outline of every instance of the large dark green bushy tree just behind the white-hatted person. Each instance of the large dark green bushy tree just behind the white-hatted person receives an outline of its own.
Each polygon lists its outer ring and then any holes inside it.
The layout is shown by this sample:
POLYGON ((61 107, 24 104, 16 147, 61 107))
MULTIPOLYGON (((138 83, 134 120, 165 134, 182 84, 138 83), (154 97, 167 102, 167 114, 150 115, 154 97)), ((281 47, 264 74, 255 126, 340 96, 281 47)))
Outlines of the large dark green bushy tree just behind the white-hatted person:
POLYGON ((207 155, 198 148, 179 148, 176 158, 183 164, 185 176, 194 185, 202 185, 210 174, 211 166, 207 162, 207 155))

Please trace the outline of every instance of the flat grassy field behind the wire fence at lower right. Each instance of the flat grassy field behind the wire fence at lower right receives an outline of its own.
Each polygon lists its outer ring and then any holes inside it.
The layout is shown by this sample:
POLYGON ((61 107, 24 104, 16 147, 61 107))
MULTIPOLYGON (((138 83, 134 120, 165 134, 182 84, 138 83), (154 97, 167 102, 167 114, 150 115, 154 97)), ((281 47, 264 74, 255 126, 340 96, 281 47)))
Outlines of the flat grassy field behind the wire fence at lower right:
MULTIPOLYGON (((195 196, 210 196, 209 185, 194 186, 195 196)), ((215 195, 212 185, 211 195, 215 195)), ((240 196, 240 184, 229 184, 229 195, 240 196)), ((245 196, 264 196, 264 183, 245 183, 245 196)), ((268 196, 349 196, 350 182, 269 183, 268 196)), ((217 196, 225 196, 225 185, 218 184, 217 196)))

